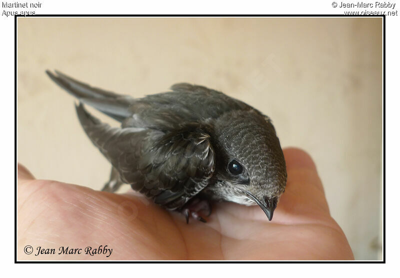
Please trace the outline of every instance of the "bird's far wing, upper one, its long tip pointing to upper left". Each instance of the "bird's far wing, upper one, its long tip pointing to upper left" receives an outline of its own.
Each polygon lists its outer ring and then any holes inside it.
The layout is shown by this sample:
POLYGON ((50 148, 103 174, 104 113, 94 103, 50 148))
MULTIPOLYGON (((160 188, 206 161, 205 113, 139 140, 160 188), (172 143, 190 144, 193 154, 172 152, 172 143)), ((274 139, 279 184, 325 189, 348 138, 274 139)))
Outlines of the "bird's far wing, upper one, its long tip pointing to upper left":
POLYGON ((123 127, 168 131, 183 121, 204 121, 232 110, 253 109, 219 91, 188 83, 174 84, 171 91, 135 99, 92 87, 57 70, 46 73, 80 102, 122 122, 123 127))

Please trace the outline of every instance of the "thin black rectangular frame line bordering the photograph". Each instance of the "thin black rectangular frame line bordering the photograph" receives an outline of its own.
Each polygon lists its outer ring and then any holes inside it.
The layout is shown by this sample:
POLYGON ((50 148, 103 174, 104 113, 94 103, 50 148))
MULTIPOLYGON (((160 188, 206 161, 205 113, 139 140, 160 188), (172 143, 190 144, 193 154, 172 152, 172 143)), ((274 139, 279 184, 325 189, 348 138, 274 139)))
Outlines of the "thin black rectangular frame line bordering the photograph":
POLYGON ((344 14, 34 14, 34 15, 14 15, 14 263, 386 263, 386 241, 385 241, 385 220, 386 220, 386 190, 385 190, 385 91, 386 91, 386 15, 344 15, 344 14), (17 94, 17 17, 380 17, 382 21, 382 145, 383 145, 383 202, 382 202, 382 260, 101 260, 101 261, 91 261, 91 260, 17 260, 16 258, 16 186, 17 186, 17 157, 16 157, 16 94, 17 94))

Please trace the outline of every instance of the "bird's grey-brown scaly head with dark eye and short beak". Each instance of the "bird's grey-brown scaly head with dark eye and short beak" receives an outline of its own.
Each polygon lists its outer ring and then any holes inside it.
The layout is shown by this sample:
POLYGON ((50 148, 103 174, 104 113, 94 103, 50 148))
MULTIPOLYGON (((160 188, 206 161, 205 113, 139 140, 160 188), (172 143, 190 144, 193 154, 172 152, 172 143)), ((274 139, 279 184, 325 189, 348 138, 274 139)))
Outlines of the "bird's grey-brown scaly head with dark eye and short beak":
POLYGON ((223 199, 258 204, 272 219, 286 185, 286 165, 269 118, 257 111, 231 111, 215 121, 215 178, 223 199))

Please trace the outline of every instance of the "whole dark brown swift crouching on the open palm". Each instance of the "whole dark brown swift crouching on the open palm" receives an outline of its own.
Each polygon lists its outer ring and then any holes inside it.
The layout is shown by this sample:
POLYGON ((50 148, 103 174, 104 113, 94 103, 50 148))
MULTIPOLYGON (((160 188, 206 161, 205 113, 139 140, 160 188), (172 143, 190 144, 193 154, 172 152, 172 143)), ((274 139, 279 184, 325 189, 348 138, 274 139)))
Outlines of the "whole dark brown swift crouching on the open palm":
POLYGON ((211 203, 258 205, 272 219, 287 181, 271 119, 252 106, 205 86, 176 83, 169 91, 134 98, 46 70, 73 95, 79 122, 111 163, 103 191, 123 183, 167 210, 206 222, 211 203), (85 105, 114 118, 111 127, 85 105))

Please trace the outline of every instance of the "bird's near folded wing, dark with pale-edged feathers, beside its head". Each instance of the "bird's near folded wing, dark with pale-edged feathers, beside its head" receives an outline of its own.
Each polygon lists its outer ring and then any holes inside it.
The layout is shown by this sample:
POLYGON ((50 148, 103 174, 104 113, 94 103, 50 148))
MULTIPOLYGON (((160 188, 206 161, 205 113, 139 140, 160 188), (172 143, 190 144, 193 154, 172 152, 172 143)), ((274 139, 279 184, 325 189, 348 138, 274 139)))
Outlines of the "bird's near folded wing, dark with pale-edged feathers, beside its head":
POLYGON ((198 123, 163 133, 110 127, 76 106, 83 129, 121 179, 155 203, 176 209, 207 185, 215 167, 210 138, 198 123))

